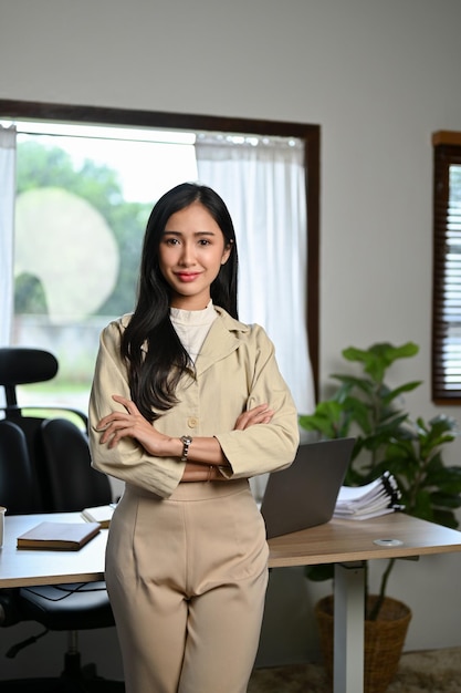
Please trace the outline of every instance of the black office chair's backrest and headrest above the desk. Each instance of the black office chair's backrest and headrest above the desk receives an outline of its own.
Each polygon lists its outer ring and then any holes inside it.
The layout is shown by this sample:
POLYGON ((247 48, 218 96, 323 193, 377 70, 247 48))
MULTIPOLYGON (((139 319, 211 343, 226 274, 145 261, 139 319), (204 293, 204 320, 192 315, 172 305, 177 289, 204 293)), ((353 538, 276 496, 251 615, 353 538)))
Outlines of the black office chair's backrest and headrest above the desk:
MULTIPOLYGON (((24 415, 18 405, 18 384, 51 380, 56 371, 50 352, 0 349, 0 385, 7 400, 6 418, 0 421, 0 505, 11 515, 75 511, 112 500, 108 478, 91 466, 86 433, 62 416, 24 415)), ((78 413, 86 425, 85 414, 66 411, 78 413)))

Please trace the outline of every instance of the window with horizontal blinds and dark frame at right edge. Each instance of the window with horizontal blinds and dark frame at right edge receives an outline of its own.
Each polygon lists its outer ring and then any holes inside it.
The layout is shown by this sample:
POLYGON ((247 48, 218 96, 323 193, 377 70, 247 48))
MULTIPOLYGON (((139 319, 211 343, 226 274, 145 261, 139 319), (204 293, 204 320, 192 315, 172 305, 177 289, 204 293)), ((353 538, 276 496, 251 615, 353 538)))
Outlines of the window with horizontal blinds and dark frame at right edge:
POLYGON ((432 400, 461 404, 461 133, 432 144, 432 400))

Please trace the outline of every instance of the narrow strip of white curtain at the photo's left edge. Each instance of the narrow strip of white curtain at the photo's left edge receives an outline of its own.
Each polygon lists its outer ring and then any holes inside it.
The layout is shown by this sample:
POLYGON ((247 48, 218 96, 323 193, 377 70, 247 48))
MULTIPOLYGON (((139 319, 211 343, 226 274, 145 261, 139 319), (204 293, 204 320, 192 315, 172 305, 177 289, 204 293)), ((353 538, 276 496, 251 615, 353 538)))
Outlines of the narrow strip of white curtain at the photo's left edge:
POLYGON ((13 314, 13 240, 15 127, 0 125, 0 346, 11 342, 13 314))

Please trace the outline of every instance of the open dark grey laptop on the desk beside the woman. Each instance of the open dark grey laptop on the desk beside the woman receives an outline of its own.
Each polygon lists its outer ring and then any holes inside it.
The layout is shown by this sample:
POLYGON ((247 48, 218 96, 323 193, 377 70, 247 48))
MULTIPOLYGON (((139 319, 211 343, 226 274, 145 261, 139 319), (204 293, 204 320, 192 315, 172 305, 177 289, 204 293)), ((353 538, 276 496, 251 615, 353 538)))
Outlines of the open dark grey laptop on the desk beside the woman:
POLYGON ((268 539, 328 523, 355 438, 304 443, 290 467, 269 475, 261 513, 268 539))

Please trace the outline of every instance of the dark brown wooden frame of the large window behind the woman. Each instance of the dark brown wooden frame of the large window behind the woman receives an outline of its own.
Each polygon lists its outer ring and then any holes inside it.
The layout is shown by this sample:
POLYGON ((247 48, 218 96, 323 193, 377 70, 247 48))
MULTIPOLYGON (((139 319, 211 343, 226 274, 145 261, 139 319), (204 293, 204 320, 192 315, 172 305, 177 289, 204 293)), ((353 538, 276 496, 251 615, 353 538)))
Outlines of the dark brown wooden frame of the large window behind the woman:
MULTIPOLYGON (((307 276, 302 289, 307 292, 306 324, 308 349, 314 385, 316 385, 318 361, 318 126, 8 101, 0 101, 0 120, 2 117, 21 121, 40 121, 50 124, 108 125, 111 128, 117 130, 136 127, 147 130, 160 128, 170 132, 189 131, 199 134, 234 133, 285 138, 293 137, 302 141, 305 168, 306 226, 308 229, 308 234, 306 234, 307 276)), ((180 179, 185 179, 185 177, 188 178, 189 176, 181 176, 180 179)), ((140 214, 145 214, 144 210, 139 211, 140 214)), ((144 226, 145 219, 143 230, 144 226)), ((31 278, 28 277, 25 272, 23 278, 25 286, 29 280, 31 280, 31 278)), ((27 291, 25 296, 30 296, 30 293, 27 291)), ((38 293, 38 300, 40 300, 40 292, 38 293)), ((118 311, 116 312, 118 314, 118 311)), ((82 339, 82 337, 78 339, 82 339)))

